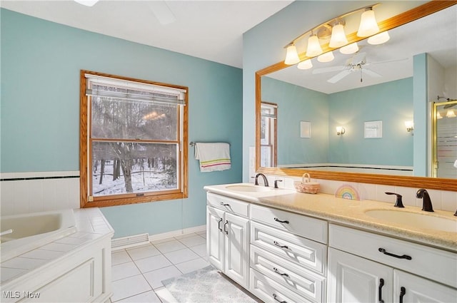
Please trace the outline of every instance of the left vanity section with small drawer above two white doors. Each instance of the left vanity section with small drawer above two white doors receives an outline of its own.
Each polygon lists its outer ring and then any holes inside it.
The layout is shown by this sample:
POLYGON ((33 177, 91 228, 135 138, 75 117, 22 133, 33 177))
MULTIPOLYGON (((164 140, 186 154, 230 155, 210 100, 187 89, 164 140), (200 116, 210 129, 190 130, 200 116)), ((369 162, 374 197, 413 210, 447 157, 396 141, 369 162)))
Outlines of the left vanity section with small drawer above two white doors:
POLYGON ((206 252, 209 262, 247 288, 249 205, 211 192, 206 197, 206 252))

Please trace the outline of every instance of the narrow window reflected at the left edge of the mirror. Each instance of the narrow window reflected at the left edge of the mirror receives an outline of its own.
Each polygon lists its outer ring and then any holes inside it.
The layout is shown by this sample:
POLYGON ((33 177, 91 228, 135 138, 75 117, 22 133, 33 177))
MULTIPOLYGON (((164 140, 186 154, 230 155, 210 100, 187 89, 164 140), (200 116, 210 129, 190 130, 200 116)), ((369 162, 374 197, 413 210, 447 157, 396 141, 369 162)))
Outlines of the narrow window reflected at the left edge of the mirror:
POLYGON ((277 119, 278 106, 275 103, 261 103, 261 167, 274 168, 276 167, 277 154, 277 119))

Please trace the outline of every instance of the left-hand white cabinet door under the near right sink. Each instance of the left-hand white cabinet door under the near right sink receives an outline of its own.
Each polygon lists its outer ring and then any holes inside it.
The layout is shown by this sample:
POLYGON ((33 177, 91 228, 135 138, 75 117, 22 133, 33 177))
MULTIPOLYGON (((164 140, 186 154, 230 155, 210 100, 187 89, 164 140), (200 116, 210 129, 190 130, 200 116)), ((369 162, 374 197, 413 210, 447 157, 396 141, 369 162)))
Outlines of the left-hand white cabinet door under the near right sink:
POLYGON ((328 262, 328 302, 392 302, 391 267, 333 248, 328 262))

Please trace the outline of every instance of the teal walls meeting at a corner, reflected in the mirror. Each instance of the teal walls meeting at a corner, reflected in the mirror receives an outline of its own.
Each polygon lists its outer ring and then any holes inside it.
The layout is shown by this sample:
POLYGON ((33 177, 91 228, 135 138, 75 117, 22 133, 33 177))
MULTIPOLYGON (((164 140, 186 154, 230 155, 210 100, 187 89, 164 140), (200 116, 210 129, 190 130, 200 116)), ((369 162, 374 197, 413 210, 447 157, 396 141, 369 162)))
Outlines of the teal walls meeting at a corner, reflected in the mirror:
POLYGON ((326 94, 263 77, 262 101, 278 104, 279 165, 413 165, 404 125, 413 120, 413 78, 326 94), (364 123, 373 120, 383 121, 383 138, 364 138, 364 123), (311 122, 311 138, 300 138, 300 121, 311 122), (337 125, 344 135, 336 135, 337 125))

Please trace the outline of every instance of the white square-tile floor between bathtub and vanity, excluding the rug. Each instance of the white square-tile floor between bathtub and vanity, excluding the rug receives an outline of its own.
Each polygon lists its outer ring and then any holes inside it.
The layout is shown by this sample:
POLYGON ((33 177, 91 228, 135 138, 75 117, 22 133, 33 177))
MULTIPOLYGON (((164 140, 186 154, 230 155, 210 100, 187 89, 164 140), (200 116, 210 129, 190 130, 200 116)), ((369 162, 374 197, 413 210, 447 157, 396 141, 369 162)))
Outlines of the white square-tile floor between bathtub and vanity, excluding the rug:
POLYGON ((172 303, 174 298, 161 281, 209 265, 206 232, 117 250, 112 253, 111 264, 111 302, 172 303))

